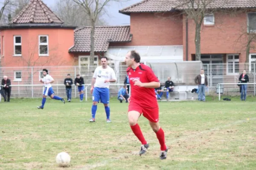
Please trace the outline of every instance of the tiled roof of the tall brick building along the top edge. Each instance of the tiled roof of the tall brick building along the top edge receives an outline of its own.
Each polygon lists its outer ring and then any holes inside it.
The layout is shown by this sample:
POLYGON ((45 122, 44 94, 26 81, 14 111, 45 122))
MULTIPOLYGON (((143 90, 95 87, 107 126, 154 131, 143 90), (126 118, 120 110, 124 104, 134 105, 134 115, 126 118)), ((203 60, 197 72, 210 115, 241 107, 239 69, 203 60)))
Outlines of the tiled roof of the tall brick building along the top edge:
MULTIPOLYGON (((189 0, 188 0, 189 1, 189 0)), ((184 1, 181 1, 184 2, 184 1)), ((180 0, 143 0, 124 9, 120 13, 130 14, 135 12, 169 12, 172 9, 186 9, 187 5, 179 6, 180 0)), ((254 8, 255 0, 213 0, 209 8, 254 8)))

